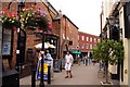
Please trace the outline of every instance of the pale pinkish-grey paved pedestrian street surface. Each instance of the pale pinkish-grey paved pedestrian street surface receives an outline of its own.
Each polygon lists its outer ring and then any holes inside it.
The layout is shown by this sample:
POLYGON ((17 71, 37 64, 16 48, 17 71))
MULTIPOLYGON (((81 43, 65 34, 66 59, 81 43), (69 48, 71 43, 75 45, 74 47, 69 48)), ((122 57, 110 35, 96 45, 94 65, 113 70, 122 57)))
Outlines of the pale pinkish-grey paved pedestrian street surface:
MULTIPOLYGON (((60 73, 54 73, 54 78, 51 82, 51 85, 101 85, 103 78, 98 77, 99 63, 95 65, 90 64, 88 66, 81 64, 74 64, 73 66, 73 78, 65 78, 66 72, 63 70, 60 73)), ((27 76, 21 78, 21 85, 30 85, 31 77, 27 76)), ((39 80, 36 82, 39 84, 39 80)))

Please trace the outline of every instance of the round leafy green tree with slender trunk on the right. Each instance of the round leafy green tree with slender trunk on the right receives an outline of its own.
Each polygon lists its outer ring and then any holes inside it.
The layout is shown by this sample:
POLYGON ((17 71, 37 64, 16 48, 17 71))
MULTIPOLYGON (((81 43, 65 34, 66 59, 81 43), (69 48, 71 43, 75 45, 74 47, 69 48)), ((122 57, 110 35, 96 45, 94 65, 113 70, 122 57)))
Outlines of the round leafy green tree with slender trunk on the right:
POLYGON ((123 59, 123 46, 121 41, 105 39, 96 42, 96 47, 92 49, 92 57, 102 60, 105 63, 106 80, 102 84, 112 84, 108 80, 108 64, 116 65, 123 59))

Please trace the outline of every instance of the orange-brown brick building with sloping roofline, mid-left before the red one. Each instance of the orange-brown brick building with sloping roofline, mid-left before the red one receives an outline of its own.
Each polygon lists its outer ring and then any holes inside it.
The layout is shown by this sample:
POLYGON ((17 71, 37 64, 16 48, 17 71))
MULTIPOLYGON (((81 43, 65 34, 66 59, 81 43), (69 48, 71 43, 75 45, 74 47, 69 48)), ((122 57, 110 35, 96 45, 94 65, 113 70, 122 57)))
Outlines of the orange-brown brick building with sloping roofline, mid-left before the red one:
MULTIPOLYGON (((78 46, 78 27, 66 16, 63 15, 61 28, 61 52, 76 49, 78 46)), ((63 57, 62 57, 63 58, 63 57)))

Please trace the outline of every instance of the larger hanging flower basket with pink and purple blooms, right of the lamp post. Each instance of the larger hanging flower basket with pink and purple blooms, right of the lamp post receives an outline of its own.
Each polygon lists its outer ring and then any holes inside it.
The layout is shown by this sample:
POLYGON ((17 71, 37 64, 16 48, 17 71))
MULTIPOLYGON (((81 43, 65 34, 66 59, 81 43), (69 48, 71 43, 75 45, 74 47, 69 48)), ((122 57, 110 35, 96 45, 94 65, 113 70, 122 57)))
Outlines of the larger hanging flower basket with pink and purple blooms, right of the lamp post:
POLYGON ((48 15, 44 11, 41 11, 40 8, 31 7, 23 9, 20 12, 22 26, 25 29, 40 29, 48 30, 48 15))

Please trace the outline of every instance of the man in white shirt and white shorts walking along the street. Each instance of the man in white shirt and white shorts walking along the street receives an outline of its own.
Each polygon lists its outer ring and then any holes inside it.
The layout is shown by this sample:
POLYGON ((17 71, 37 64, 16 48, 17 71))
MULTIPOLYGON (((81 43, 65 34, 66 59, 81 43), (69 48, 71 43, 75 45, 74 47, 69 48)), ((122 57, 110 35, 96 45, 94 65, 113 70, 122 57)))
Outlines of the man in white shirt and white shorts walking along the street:
POLYGON ((65 78, 68 78, 68 74, 69 74, 70 78, 73 77, 73 74, 72 74, 73 62, 74 62, 74 58, 69 53, 69 51, 67 51, 67 54, 65 55, 65 70, 66 70, 67 76, 65 76, 65 78))

